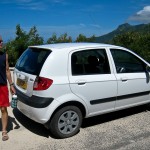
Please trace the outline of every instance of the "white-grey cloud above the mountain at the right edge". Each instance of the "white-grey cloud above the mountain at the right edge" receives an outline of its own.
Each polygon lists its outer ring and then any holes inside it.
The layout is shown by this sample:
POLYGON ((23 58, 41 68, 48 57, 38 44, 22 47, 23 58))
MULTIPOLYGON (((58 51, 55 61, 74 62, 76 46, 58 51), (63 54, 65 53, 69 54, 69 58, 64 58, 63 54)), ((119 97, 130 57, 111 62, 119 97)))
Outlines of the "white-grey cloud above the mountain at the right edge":
POLYGON ((130 16, 128 18, 128 21, 150 23, 150 6, 145 6, 142 10, 138 11, 135 15, 130 16))

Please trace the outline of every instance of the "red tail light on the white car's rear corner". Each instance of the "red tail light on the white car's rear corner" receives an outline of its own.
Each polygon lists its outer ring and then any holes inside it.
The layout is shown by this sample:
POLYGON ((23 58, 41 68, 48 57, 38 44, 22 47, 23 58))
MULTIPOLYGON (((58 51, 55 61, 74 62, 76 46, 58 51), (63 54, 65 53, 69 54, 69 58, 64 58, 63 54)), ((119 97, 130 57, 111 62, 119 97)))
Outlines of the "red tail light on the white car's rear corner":
POLYGON ((37 77, 34 82, 33 90, 46 90, 48 89, 53 83, 53 80, 47 79, 44 77, 37 77))

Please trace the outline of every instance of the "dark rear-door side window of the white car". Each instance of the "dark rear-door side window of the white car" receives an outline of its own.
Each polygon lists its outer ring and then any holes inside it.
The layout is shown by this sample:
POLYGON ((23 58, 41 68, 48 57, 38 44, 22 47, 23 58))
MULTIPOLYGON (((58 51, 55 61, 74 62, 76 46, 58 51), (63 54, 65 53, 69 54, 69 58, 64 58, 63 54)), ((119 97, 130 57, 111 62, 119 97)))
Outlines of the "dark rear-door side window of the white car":
POLYGON ((71 56, 72 75, 109 74, 105 49, 83 50, 71 56))

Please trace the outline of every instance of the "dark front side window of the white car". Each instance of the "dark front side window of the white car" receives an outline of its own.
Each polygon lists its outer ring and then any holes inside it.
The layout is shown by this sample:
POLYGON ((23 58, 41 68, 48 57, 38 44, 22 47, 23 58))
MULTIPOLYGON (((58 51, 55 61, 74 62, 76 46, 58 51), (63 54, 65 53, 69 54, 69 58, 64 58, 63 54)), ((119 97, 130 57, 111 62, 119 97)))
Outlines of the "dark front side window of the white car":
POLYGON ((111 49, 117 73, 137 73, 144 72, 144 63, 130 52, 111 49))

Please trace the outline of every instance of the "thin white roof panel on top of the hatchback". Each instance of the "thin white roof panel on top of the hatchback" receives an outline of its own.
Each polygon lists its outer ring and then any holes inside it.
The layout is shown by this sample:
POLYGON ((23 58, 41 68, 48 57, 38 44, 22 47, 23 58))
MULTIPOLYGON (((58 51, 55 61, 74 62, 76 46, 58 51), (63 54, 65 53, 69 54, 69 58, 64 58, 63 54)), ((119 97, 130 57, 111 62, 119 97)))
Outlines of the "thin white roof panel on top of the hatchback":
POLYGON ((56 44, 45 44, 45 45, 37 45, 37 46, 29 46, 30 48, 41 48, 47 49, 51 51, 55 50, 65 50, 68 51, 80 48, 96 48, 96 47, 118 47, 110 44, 102 44, 102 43, 56 43, 56 44))

